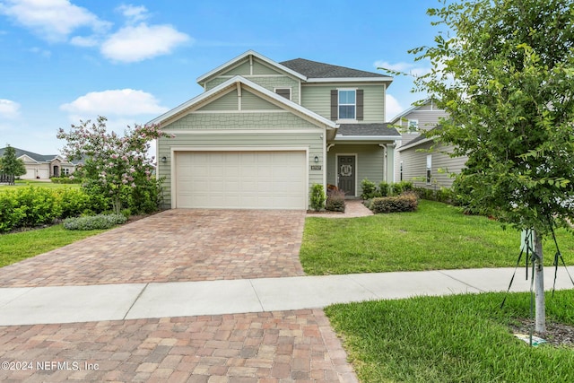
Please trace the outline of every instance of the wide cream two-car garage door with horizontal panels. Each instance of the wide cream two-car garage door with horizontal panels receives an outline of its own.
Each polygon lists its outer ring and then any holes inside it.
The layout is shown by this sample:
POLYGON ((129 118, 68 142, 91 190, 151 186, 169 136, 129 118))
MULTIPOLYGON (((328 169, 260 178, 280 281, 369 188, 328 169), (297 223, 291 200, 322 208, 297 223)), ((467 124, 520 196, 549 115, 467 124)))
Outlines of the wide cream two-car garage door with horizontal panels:
POLYGON ((177 152, 176 207, 305 209, 306 152, 177 152))

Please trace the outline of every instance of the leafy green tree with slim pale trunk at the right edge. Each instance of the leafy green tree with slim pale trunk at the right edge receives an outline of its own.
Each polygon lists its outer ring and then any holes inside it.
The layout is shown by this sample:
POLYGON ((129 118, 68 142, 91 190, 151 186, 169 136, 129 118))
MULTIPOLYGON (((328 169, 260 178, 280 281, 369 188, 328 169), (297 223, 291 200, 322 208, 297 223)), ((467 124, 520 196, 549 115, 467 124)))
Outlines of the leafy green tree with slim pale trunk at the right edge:
POLYGON ((574 222, 574 3, 440 0, 444 25, 414 48, 431 73, 415 78, 447 109, 434 131, 466 155, 457 176, 474 211, 534 232, 535 330, 545 332, 542 240, 574 222))

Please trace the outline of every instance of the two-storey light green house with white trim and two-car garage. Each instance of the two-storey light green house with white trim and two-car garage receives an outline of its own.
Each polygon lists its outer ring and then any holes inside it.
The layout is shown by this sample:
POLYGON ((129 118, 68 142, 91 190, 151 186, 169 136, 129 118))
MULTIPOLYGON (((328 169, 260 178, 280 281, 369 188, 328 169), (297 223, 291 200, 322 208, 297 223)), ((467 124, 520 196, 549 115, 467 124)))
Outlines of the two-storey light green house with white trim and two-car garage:
POLYGON ((361 195, 393 176, 392 77, 249 50, 201 75, 204 93, 150 121, 165 207, 307 209, 314 184, 361 195))

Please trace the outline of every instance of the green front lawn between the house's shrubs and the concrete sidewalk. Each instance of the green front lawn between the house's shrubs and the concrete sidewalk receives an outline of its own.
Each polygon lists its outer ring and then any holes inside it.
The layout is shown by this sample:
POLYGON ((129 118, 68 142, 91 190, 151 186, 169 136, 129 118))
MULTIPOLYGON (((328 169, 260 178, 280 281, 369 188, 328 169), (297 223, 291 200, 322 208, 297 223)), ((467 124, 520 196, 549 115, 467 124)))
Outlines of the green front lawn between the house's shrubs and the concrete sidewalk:
MULTIPOLYGON (((574 265, 574 236, 566 231, 557 236, 566 263, 574 265)), ((422 200, 414 213, 307 218, 300 260, 314 275, 511 267, 519 248, 518 231, 422 200)), ((546 265, 552 265, 555 252, 553 242, 546 241, 546 265)))

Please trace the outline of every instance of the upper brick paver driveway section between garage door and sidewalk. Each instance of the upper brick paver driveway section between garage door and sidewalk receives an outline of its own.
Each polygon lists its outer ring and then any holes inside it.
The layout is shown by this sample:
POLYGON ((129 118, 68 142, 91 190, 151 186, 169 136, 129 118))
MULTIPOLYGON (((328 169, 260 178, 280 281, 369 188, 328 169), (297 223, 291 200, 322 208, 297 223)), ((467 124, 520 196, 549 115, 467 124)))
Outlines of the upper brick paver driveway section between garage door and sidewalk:
POLYGON ((0 287, 302 275, 305 212, 168 210, 0 268, 0 287))

